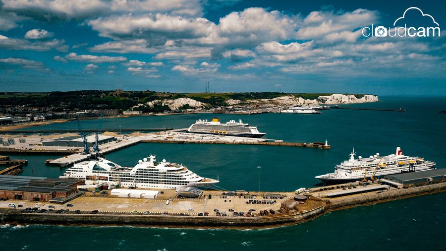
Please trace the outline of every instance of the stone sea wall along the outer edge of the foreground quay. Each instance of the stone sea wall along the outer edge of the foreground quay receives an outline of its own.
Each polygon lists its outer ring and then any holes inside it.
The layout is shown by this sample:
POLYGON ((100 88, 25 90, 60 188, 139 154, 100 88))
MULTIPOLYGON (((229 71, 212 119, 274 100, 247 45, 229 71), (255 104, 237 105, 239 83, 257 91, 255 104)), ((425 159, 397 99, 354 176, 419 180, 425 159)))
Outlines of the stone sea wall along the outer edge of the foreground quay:
POLYGON ((216 217, 216 216, 176 216, 176 215, 134 215, 134 214, 38 214, 21 213, 8 209, 0 211, 2 224, 61 224, 61 225, 133 225, 165 226, 186 228, 264 228, 292 225, 314 219, 334 210, 351 208, 371 203, 387 202, 395 199, 420 196, 446 191, 446 183, 438 183, 413 188, 392 189, 382 193, 349 196, 346 198, 319 198, 322 205, 307 211, 291 210, 255 217, 216 217))

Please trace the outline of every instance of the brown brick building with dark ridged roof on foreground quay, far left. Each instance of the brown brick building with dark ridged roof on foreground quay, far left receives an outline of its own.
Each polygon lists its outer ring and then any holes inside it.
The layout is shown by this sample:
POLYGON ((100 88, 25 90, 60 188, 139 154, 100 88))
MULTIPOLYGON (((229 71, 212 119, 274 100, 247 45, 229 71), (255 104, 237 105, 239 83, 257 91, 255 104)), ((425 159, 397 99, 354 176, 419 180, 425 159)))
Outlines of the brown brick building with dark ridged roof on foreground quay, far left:
POLYGON ((78 195, 78 179, 0 175, 0 198, 63 203, 78 195))

